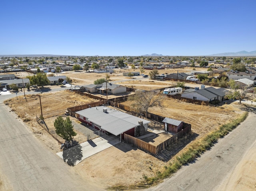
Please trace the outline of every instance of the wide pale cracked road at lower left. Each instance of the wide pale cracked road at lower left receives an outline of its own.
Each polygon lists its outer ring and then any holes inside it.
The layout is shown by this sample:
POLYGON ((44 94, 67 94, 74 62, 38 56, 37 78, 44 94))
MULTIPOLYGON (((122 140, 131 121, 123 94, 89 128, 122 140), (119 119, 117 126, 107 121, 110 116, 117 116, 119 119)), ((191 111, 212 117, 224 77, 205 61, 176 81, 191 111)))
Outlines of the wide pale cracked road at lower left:
POLYGON ((1 100, 0 175, 10 190, 101 190, 50 152, 1 100))

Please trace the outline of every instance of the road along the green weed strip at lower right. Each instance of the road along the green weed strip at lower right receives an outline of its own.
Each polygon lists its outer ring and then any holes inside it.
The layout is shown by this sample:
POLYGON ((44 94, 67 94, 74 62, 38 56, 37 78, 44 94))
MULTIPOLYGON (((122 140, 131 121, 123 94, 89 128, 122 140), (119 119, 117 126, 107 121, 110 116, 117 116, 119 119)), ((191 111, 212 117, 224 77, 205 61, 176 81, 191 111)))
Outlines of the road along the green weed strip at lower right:
POLYGON ((248 118, 233 132, 220 139, 210 151, 188 166, 182 167, 174 176, 148 191, 212 191, 228 179, 242 156, 256 140, 256 114, 248 118))

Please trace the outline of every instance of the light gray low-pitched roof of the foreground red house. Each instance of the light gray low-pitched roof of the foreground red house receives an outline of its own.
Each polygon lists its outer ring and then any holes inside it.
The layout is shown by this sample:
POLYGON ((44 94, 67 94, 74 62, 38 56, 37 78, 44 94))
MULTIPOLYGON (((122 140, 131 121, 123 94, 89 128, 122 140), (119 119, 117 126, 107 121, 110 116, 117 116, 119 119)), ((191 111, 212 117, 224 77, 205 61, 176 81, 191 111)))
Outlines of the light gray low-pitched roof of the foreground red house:
POLYGON ((107 108, 108 113, 103 112, 104 106, 87 108, 76 112, 77 114, 88 118, 90 122, 100 125, 100 128, 106 130, 115 136, 122 134, 136 126, 139 121, 148 124, 150 121, 126 114, 124 112, 107 108))

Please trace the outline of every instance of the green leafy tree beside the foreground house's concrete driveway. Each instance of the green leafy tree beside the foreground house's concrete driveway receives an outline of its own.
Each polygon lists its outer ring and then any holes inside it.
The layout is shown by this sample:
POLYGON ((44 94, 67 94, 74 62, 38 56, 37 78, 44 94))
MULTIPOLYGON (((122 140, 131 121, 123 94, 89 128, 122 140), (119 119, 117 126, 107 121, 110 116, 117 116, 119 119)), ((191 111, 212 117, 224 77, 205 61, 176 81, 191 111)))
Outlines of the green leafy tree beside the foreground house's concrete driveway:
POLYGON ((73 128, 74 126, 69 117, 66 117, 66 120, 64 120, 62 116, 58 116, 54 121, 54 127, 56 134, 64 140, 70 141, 73 139, 73 136, 76 136, 76 132, 74 132, 73 128))

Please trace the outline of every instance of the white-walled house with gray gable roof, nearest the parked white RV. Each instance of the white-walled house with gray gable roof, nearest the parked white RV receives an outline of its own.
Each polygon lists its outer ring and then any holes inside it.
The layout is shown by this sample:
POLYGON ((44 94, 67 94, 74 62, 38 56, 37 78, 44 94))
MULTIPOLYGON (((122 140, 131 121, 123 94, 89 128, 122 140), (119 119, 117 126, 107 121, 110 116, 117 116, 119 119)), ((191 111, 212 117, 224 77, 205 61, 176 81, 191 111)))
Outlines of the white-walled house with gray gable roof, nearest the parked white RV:
POLYGON ((218 98, 217 95, 215 95, 205 89, 185 92, 181 95, 181 97, 194 99, 194 100, 201 100, 201 101, 205 101, 205 102, 210 102, 210 101, 216 100, 218 98))

